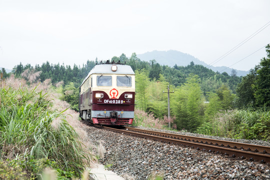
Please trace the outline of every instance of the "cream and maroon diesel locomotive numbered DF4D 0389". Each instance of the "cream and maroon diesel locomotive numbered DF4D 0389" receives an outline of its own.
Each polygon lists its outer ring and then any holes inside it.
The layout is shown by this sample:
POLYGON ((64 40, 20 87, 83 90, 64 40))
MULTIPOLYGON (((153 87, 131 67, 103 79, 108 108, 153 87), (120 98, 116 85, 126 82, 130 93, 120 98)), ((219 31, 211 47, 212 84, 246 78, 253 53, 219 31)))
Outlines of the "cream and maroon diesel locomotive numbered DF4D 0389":
POLYGON ((135 73, 120 61, 100 61, 79 86, 79 116, 100 125, 132 124, 135 73))

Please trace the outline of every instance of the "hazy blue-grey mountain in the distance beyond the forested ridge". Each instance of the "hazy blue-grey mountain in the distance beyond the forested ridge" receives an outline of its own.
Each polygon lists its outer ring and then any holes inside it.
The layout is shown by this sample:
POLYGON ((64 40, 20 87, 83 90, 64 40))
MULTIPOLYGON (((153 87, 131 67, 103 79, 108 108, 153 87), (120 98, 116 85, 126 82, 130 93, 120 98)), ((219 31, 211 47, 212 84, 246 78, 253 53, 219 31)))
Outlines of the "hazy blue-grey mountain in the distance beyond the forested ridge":
MULTIPOLYGON (((205 62, 197 59, 196 57, 187 54, 187 53, 183 53, 177 50, 167 50, 167 51, 159 51, 159 50, 153 50, 151 52, 145 52, 142 54, 137 54, 137 57, 140 58, 140 60, 144 60, 144 61, 149 61, 152 59, 155 59, 156 62, 158 62, 161 65, 168 65, 170 67, 172 67, 173 65, 177 64, 177 65, 181 65, 181 66, 186 66, 188 65, 191 61, 194 62, 194 64, 200 64, 203 65, 205 67, 208 66, 208 64, 206 64, 205 62)), ((227 72, 228 74, 231 73, 232 68, 227 68, 225 66, 210 66, 208 67, 210 69, 212 69, 213 71, 224 71, 227 72), (225 69, 225 70, 224 70, 225 69)), ((244 71, 244 70, 236 70, 236 75, 238 76, 245 76, 248 71, 244 71)))

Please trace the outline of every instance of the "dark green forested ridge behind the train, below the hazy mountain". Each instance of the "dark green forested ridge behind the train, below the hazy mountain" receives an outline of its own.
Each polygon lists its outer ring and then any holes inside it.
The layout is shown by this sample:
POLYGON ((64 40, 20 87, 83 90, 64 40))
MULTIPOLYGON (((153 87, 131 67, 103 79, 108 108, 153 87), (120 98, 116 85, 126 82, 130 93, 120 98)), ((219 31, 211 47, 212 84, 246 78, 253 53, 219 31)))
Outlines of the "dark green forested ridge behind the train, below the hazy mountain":
MULTIPOLYGON (((189 62, 186 66, 174 64, 170 67, 168 65, 161 65, 155 60, 150 60, 150 62, 143 61, 137 57, 136 53, 132 53, 130 58, 127 58, 125 54, 121 54, 119 57, 112 57, 111 60, 126 62, 126 64, 130 65, 134 71, 145 69, 150 80, 160 80, 161 74, 162 80, 167 81, 175 87, 184 84, 190 73, 196 74, 200 78, 201 88, 204 94, 208 91, 214 91, 216 88, 214 86, 219 84, 217 85, 219 87, 221 83, 227 84, 232 92, 235 93, 236 85, 241 81, 241 78, 238 77, 236 75, 237 73, 233 70, 229 73, 218 73, 203 65, 195 64, 193 61, 189 62)), ((12 72, 18 77, 26 69, 29 69, 27 71, 28 76, 29 74, 37 74, 38 72, 41 82, 49 78, 53 84, 59 81, 63 81, 64 84, 72 82, 75 87, 78 87, 97 61, 97 59, 95 61, 87 60, 82 66, 76 64, 73 66, 59 63, 51 64, 48 61, 41 65, 36 64, 35 66, 32 66, 31 64, 22 65, 20 63, 13 67, 12 72)), ((1 71, 3 72, 4 77, 8 75, 4 69, 1 71)))

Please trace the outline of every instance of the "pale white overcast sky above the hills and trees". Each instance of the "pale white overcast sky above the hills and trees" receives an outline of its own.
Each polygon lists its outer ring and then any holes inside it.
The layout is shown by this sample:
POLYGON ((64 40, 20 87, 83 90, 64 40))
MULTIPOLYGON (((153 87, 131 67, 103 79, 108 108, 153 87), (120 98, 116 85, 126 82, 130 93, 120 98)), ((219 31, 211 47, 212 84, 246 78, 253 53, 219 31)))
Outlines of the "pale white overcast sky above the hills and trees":
MULTIPOLYGON (((178 50, 211 63, 266 23, 269 0, 0 0, 0 67, 178 50)), ((214 66, 270 43, 270 25, 214 66)), ((249 70, 265 48, 231 66, 249 70)))

